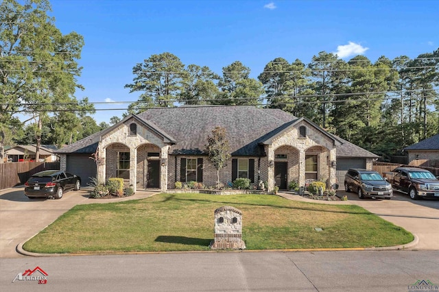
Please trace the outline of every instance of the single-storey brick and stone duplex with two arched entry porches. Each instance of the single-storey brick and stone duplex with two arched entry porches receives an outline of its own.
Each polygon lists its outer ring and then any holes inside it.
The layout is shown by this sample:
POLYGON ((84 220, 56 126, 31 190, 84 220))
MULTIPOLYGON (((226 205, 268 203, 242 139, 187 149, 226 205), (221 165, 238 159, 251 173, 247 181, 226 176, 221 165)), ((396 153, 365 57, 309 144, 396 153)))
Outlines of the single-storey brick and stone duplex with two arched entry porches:
POLYGON ((131 114, 106 130, 57 151, 61 169, 81 176, 124 178, 132 188, 174 188, 175 182, 215 186, 216 169, 204 149, 207 136, 225 127, 232 158, 223 184, 249 178, 286 189, 291 181, 342 182, 351 167, 372 168, 379 156, 329 134, 306 118, 254 106, 182 106, 131 114), (90 159, 97 153, 99 160, 90 159), (339 156, 340 154, 340 156, 339 156))

